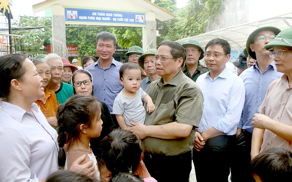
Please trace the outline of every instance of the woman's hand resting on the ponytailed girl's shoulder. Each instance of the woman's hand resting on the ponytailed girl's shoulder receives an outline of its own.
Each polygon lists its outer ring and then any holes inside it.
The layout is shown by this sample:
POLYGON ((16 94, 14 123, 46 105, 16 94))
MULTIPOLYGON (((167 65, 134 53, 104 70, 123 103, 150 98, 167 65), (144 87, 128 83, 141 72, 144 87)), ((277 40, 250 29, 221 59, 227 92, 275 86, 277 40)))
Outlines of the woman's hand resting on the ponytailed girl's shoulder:
POLYGON ((86 162, 85 164, 80 165, 82 161, 85 160, 85 154, 76 159, 68 171, 84 174, 89 177, 95 176, 95 168, 93 165, 93 160, 86 162))

